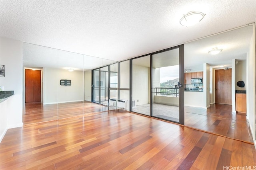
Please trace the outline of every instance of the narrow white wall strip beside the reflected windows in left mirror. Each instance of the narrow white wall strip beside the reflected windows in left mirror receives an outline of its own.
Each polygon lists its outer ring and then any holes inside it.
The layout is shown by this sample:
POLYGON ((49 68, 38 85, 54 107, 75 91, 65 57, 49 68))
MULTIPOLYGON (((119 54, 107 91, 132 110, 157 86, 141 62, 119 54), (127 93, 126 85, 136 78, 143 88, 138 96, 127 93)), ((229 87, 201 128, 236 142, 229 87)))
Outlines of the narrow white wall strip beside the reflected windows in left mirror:
POLYGON ((92 100, 92 70, 84 72, 84 100, 92 100))

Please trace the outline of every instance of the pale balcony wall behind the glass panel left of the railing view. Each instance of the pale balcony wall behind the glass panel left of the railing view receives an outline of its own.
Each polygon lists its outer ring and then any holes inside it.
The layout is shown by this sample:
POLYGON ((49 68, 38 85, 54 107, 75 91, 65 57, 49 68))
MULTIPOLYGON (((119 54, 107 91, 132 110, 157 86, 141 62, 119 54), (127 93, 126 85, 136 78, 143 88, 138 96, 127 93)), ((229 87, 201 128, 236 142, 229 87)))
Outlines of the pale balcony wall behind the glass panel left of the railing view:
POLYGON ((132 100, 136 106, 149 103, 149 70, 148 67, 132 65, 132 100))

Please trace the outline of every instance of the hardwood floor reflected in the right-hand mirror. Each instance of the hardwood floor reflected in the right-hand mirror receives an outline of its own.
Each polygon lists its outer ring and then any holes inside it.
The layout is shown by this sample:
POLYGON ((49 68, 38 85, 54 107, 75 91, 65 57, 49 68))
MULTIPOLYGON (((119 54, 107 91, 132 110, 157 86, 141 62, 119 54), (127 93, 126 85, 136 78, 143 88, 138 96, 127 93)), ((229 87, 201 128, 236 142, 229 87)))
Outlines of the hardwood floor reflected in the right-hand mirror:
POLYGON ((253 144, 245 114, 232 113, 232 105, 214 104, 208 109, 185 110, 185 125, 253 144))

